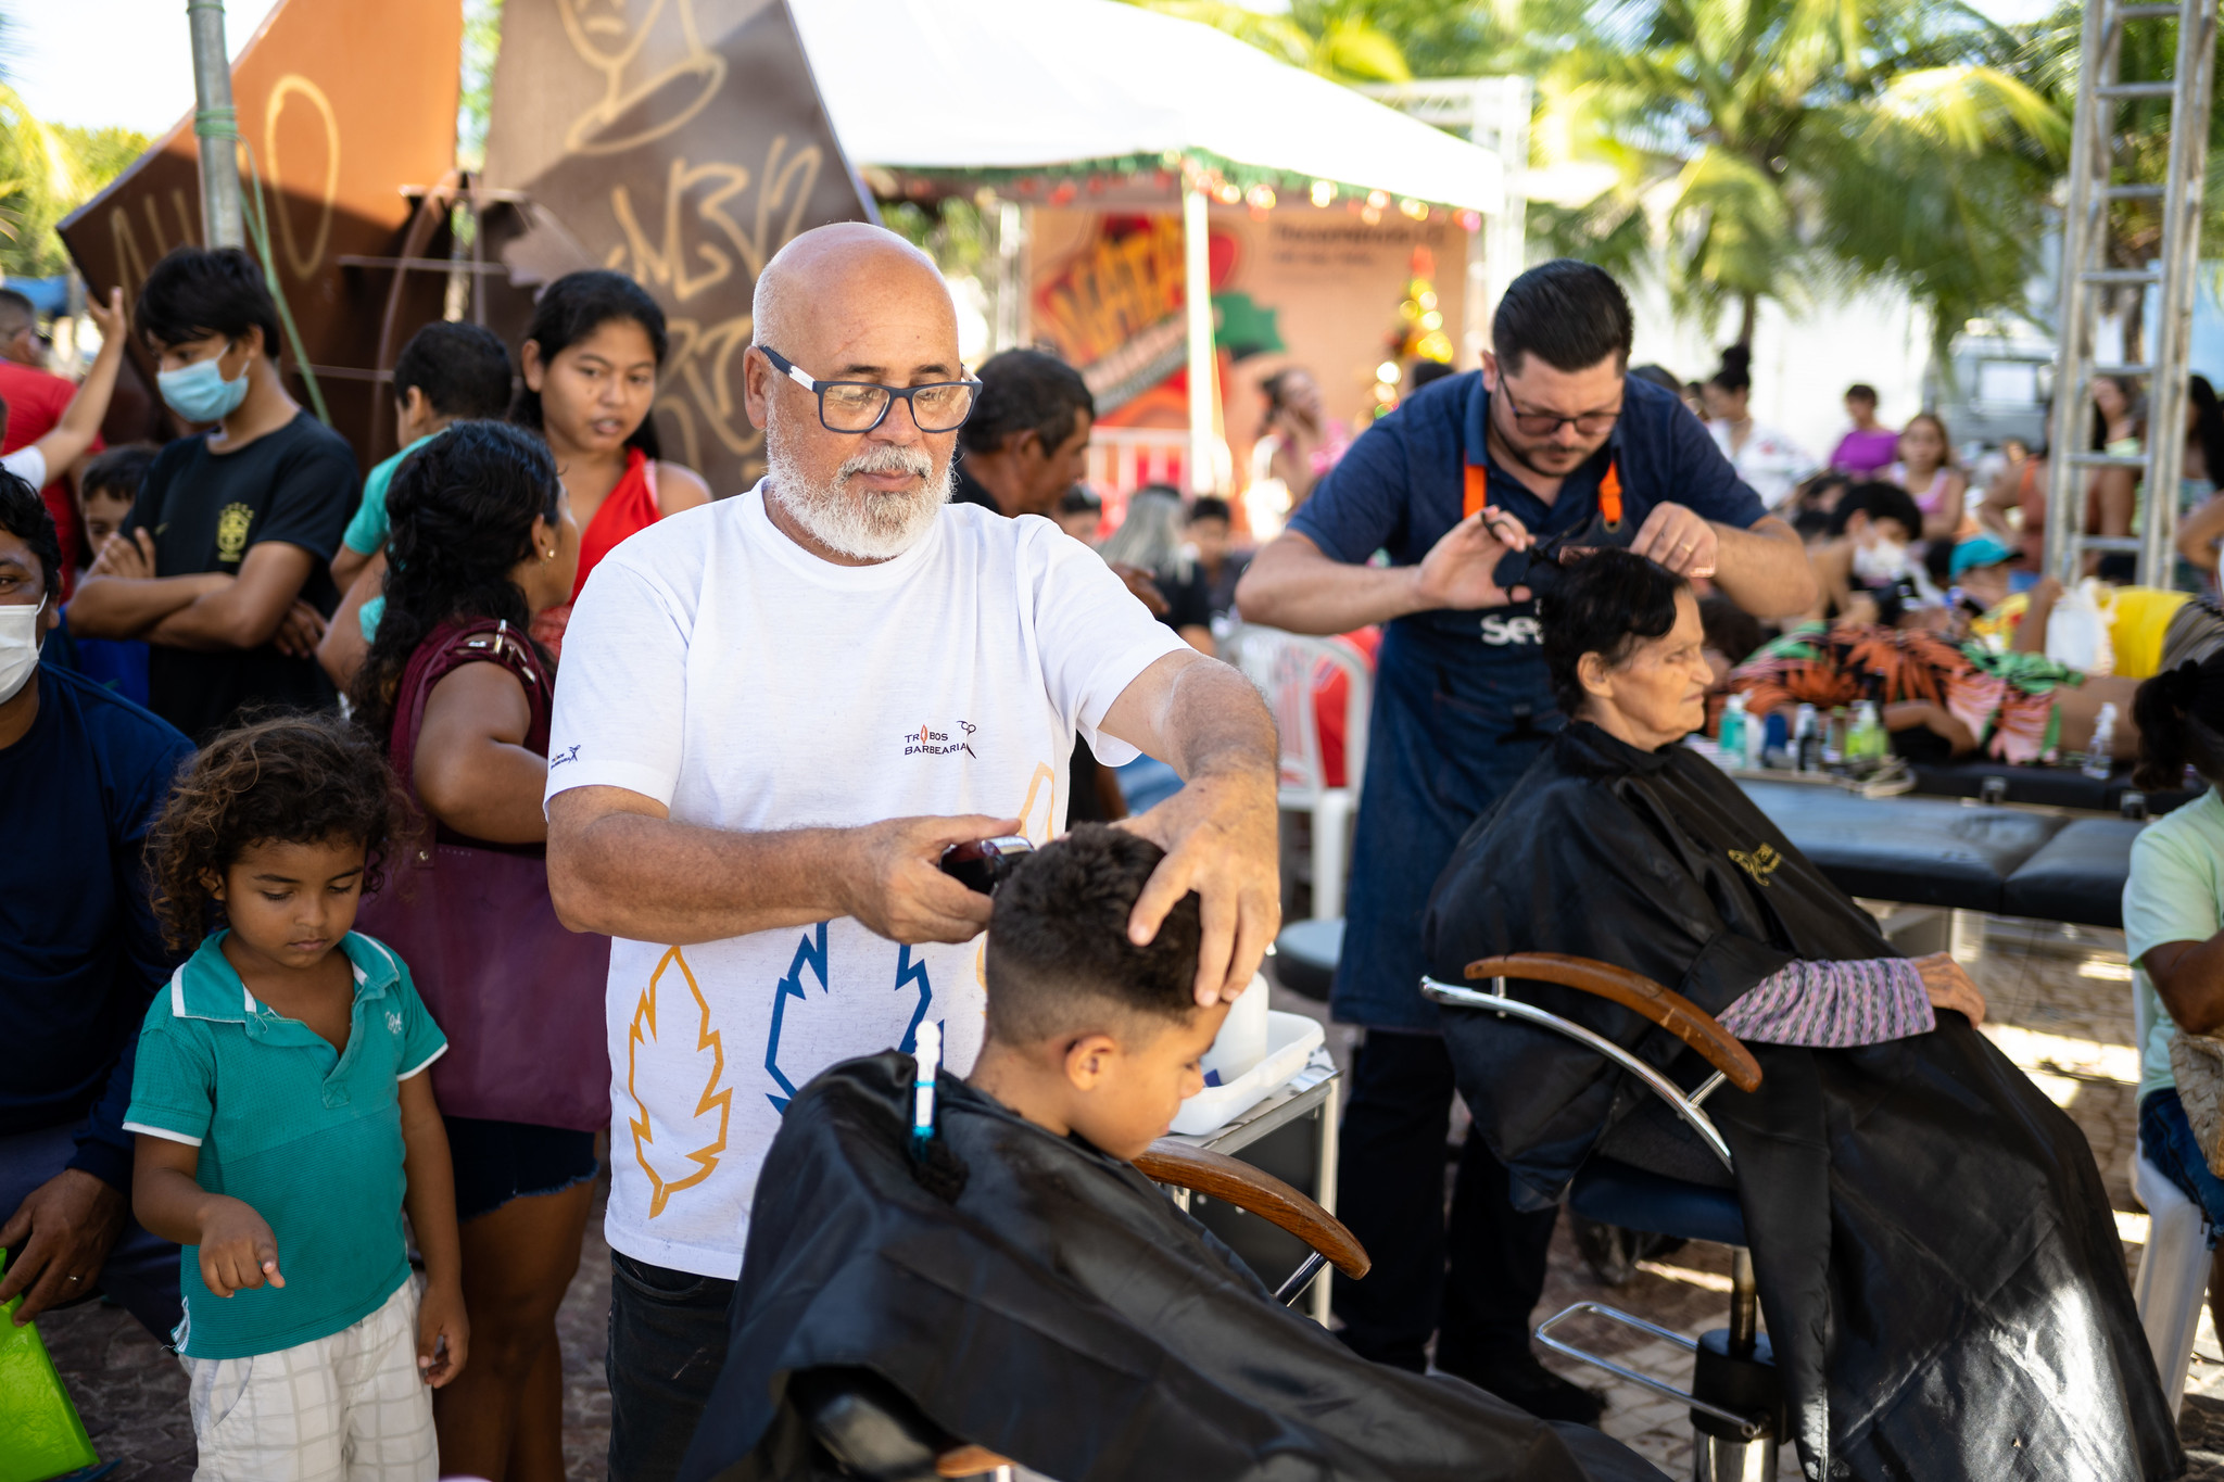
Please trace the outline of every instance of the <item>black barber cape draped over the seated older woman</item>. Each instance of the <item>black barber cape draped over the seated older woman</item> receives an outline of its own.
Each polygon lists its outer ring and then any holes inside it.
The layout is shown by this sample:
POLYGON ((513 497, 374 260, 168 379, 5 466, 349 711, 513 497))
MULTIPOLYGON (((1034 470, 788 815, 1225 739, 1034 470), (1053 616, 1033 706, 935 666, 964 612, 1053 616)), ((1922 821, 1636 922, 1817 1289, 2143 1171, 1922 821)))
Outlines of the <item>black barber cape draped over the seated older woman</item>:
MULTIPOLYGON (((1715 1015, 1795 958, 1899 955, 1710 762, 1583 722, 1468 831, 1426 931, 1448 982, 1475 958, 1557 951, 1635 969, 1715 1015)), ((1604 998, 1508 991, 1684 1087, 1708 1073, 1604 998)), ((1806 1475, 2180 1475, 2093 1151, 1966 1018, 1937 1020, 1866 1049, 1750 1044, 1759 1091, 1721 1087, 1706 1102, 1737 1164, 1806 1475)), ((1635 1078, 1572 1040, 1461 1009, 1443 1029, 1517 1204, 1557 1200, 1595 1144, 1612 1155, 1648 1124, 1672 1126, 1635 1078)))

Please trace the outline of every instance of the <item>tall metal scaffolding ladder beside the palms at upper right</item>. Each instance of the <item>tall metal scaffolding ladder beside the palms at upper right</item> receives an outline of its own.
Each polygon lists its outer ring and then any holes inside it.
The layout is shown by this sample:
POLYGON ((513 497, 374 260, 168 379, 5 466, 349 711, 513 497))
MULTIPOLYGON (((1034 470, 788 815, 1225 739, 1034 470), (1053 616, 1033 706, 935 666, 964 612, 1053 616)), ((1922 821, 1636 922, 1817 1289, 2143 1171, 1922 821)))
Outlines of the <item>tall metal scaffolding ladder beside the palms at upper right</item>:
POLYGON ((2046 569, 2073 582, 2088 551, 2137 551, 2137 580, 2168 587, 2177 538, 2177 480, 2184 467, 2186 360, 2193 340, 2193 289, 2200 262, 2202 178, 2208 169, 2208 104, 2215 84, 2217 0, 2119 4, 2088 0, 2077 64, 2077 118, 2071 133, 2068 200, 2062 213, 2062 351, 2055 362, 2053 458, 2046 489, 2046 569), (2177 20, 2177 60, 2168 82, 2117 82, 2124 27, 2177 20), (2171 156, 2160 184, 2117 182, 2117 104, 2171 100, 2171 156), (2108 267, 2108 202, 2160 200, 2160 258, 2146 267, 2108 267), (2160 313, 2139 364, 2095 362, 2097 289, 2162 287, 2160 313), (2144 378, 2146 447, 2137 453, 2088 451, 2093 382, 2102 375, 2144 378), (2086 535, 2086 484, 2095 469, 2144 475, 2137 535, 2086 535))

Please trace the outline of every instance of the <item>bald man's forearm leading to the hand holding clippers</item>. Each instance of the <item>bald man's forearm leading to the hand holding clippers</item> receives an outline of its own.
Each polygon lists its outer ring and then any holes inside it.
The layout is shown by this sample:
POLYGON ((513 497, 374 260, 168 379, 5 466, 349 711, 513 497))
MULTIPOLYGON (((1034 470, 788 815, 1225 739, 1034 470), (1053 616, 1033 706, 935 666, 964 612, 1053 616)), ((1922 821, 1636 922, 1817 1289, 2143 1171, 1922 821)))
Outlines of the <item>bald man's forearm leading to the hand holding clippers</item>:
POLYGON ((572 931, 689 947, 847 915, 850 829, 729 833, 647 813, 549 813, 549 895, 572 931))

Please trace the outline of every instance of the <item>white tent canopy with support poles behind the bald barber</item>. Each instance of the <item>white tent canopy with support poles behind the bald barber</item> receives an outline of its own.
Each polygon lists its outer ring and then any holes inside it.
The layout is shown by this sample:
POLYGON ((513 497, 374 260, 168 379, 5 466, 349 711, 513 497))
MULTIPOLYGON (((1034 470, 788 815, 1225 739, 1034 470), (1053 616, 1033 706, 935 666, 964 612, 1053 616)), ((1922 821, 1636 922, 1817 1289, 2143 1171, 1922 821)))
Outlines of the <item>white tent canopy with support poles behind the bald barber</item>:
MULTIPOLYGON (((827 118, 854 164, 999 184, 999 344, 1023 342, 1027 333, 1016 247, 1023 229, 1019 209, 1003 204, 1012 193, 1001 182, 1027 171, 1090 169, 1125 176, 1116 191, 1090 200, 1181 211, 1188 482, 1197 493, 1214 491, 1221 478, 1205 289, 1210 198, 1201 178, 1268 184, 1279 193, 1312 193, 1317 182, 1337 193, 1379 191, 1377 209, 1397 200, 1477 211, 1497 227, 1486 249, 1495 289, 1521 271, 1519 202, 1508 207, 1499 151, 1285 67, 1210 27, 1116 0, 790 0, 790 9, 827 118), (1508 218, 1512 238, 1503 236, 1508 218)), ((1517 82, 1526 158, 1528 84, 1517 82)), ((1477 100, 1479 129, 1479 84, 1461 87, 1477 100)), ((1490 122, 1503 113, 1495 104, 1490 122)), ((1475 309, 1470 338, 1472 316, 1475 309)))

